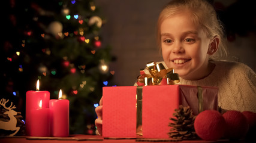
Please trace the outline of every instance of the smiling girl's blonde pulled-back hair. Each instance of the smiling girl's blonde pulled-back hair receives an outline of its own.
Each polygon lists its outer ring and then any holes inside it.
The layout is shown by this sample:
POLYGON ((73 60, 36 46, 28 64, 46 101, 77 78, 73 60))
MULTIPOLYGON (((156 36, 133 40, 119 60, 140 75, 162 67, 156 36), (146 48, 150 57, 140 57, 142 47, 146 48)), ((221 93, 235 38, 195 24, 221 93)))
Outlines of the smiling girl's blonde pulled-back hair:
POLYGON ((216 11, 206 0, 173 0, 168 3, 159 14, 157 25, 157 41, 158 46, 161 47, 161 24, 166 18, 183 11, 191 12, 191 20, 200 29, 203 29, 208 38, 218 36, 219 48, 218 51, 210 58, 220 59, 227 55, 225 45, 224 28, 221 21, 218 20, 216 11))

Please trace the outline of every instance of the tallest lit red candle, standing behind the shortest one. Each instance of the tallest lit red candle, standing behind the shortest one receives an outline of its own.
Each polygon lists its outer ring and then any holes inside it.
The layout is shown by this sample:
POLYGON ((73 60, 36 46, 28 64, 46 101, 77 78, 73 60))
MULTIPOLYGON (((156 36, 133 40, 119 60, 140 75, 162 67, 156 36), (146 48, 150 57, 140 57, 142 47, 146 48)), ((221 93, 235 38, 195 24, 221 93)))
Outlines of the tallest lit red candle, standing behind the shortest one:
POLYGON ((40 100, 43 101, 42 108, 49 108, 50 92, 39 91, 37 80, 37 91, 26 92, 26 135, 31 135, 31 110, 38 108, 40 100))

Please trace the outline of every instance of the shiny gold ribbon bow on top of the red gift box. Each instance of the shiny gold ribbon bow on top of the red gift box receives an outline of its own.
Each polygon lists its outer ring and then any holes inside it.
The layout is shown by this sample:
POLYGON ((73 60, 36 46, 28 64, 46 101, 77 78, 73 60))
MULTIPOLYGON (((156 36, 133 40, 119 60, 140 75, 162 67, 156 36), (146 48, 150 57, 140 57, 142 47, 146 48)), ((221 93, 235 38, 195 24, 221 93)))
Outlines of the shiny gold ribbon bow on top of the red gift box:
MULTIPOLYGON (((179 74, 174 73, 173 68, 165 69, 162 63, 156 64, 154 61, 151 61, 146 64, 146 69, 150 74, 146 74, 143 70, 140 70, 140 76, 137 78, 137 82, 147 85, 174 85, 178 83, 179 74), (164 83, 164 80, 167 83, 164 83)), ((140 84, 140 85, 141 85, 140 84)))

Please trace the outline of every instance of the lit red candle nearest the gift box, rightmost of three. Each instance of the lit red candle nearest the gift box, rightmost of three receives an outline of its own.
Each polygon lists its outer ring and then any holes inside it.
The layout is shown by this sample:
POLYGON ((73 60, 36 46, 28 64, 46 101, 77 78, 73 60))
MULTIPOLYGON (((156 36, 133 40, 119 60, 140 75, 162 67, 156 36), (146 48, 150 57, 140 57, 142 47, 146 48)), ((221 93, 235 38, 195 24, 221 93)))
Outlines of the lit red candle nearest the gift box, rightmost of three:
POLYGON ((59 91, 59 100, 50 100, 51 135, 56 137, 69 136, 70 101, 62 100, 62 91, 59 91))

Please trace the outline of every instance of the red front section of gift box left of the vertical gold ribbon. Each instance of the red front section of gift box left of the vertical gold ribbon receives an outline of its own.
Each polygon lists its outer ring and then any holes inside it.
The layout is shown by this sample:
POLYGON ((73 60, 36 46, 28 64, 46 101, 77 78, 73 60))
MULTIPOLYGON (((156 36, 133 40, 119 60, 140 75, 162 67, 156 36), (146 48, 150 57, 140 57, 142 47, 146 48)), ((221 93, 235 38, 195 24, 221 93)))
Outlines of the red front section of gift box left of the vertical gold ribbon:
POLYGON ((104 137, 136 137, 136 88, 137 86, 103 88, 104 137))

